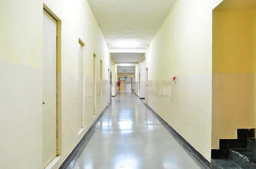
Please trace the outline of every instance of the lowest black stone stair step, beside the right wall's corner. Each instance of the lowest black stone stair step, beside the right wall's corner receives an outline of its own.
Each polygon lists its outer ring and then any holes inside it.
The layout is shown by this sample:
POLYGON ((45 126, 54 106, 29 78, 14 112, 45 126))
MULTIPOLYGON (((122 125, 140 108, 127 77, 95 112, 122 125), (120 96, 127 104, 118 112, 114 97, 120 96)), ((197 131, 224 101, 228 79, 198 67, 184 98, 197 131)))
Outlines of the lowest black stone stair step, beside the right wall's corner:
POLYGON ((212 159, 211 169, 243 169, 243 168, 228 159, 221 159, 221 160, 212 159))

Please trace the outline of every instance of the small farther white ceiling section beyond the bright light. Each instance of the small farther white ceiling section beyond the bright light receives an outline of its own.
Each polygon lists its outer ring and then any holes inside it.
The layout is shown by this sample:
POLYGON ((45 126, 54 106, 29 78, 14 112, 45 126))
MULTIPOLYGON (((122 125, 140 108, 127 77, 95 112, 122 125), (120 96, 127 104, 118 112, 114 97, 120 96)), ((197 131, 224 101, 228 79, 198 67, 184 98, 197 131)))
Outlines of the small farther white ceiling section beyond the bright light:
POLYGON ((144 53, 111 53, 116 62, 138 62, 144 53))

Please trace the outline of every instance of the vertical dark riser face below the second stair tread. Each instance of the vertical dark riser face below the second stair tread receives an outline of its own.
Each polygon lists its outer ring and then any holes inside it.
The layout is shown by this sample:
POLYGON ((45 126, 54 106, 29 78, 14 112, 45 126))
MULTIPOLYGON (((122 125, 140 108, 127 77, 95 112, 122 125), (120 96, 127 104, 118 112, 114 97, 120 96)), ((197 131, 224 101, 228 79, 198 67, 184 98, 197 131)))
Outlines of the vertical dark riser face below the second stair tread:
POLYGON ((239 164, 239 166, 243 167, 244 169, 256 169, 256 165, 253 163, 248 162, 246 159, 238 155, 234 151, 230 151, 230 159, 233 160, 235 163, 239 164))

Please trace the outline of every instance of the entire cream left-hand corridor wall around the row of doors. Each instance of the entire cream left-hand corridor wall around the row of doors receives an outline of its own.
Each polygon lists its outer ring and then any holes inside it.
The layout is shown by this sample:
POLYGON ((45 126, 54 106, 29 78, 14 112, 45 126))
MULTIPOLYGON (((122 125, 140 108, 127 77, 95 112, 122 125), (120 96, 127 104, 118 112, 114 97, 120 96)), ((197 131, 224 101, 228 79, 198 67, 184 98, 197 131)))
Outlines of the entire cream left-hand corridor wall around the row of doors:
POLYGON ((42 168, 43 3, 61 20, 62 112, 58 118, 58 168, 108 104, 108 46, 85 0, 1 0, 0 6, 0 159, 2 169, 42 168), (78 39, 83 48, 83 130, 77 131, 78 39), (97 113, 93 116, 93 53, 97 55, 97 113), (100 60, 103 79, 100 81, 100 60), (100 109, 100 83, 103 106, 100 109), (61 122, 60 122, 61 120, 61 122), (15 153, 13 153, 15 152, 15 153))

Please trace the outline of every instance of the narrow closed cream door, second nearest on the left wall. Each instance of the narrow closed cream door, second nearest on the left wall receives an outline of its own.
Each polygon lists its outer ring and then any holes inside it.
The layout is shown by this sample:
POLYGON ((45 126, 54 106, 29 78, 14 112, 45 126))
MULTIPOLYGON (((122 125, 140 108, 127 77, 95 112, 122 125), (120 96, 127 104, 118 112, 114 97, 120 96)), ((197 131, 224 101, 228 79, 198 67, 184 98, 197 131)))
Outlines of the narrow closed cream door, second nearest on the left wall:
POLYGON ((82 103, 83 103, 83 45, 79 42, 78 51, 78 130, 83 127, 82 103))

